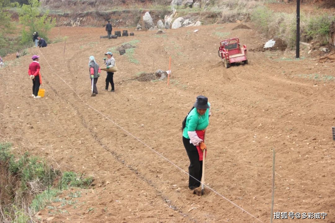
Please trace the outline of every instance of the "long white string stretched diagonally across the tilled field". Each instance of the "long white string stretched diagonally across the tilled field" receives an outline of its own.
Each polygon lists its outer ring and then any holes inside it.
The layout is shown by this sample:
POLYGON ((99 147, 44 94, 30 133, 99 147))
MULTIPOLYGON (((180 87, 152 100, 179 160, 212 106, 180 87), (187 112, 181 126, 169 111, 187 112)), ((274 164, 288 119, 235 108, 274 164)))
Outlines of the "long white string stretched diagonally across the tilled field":
MULTIPOLYGON (((123 131, 127 132, 129 135, 131 135, 133 138, 137 139, 139 142, 141 142, 143 145, 145 145, 146 147, 148 147, 149 149, 151 149, 153 152, 155 152, 156 154, 160 155, 162 158, 164 158, 166 161, 170 162, 172 165, 176 166, 179 170, 181 170, 182 172, 184 172, 185 174, 189 175, 186 171, 184 171, 183 169, 181 169, 179 166, 177 166, 175 163, 173 163, 172 161, 170 161, 169 159, 167 159, 165 156, 161 155, 159 152, 157 152, 156 150, 154 150, 153 148, 151 148, 150 146, 148 146, 147 144, 145 144, 144 142, 142 142, 140 139, 138 139, 136 136, 134 136, 133 134, 131 134, 130 132, 128 132, 126 129, 124 129, 123 127, 121 127, 120 125, 118 125, 117 123, 115 123, 113 120, 111 120, 109 117, 107 117, 106 115, 104 115, 103 113, 101 113, 100 111, 96 110, 95 108, 93 108, 92 106, 90 106, 89 104, 87 104, 78 94, 77 92, 68 84, 65 82, 64 79, 62 79, 56 72, 54 72, 54 70, 52 69, 52 67, 50 66, 50 64, 48 63, 48 61, 46 60, 46 58, 44 57, 43 53, 40 50, 40 53, 42 55, 42 57, 44 58, 44 60, 47 62, 47 64, 49 65, 50 69, 53 71, 54 74, 56 74, 62 81, 64 81, 64 83, 70 87, 70 89, 80 98, 80 100, 86 104, 88 107, 92 108, 94 111, 96 111, 97 113, 99 113, 100 115, 104 116, 105 118, 107 118, 108 120, 110 120, 113 124, 115 124, 116 126, 118 126, 119 128, 121 128, 123 131)), ((194 180, 198 181, 197 179, 195 179, 193 176, 189 175, 190 177, 192 177, 194 180)), ((200 182, 200 181, 198 181, 200 182)), ((201 183, 201 182, 200 182, 201 183)), ((239 207, 237 204, 233 203, 232 201, 230 201, 229 199, 225 198, 223 195, 221 195, 220 193, 216 192, 215 190, 213 190, 212 188, 210 188, 209 186, 205 185, 205 187, 207 187, 208 189, 210 189, 211 191, 213 191, 215 194, 221 196, 223 199, 225 199, 226 201, 230 202, 231 204, 233 204, 234 206, 240 208, 242 211, 248 213, 250 216, 256 218, 254 215, 250 214, 248 211, 244 210, 243 208, 239 207)), ((258 218, 256 218, 258 221, 264 223, 263 221, 259 220, 258 218)))

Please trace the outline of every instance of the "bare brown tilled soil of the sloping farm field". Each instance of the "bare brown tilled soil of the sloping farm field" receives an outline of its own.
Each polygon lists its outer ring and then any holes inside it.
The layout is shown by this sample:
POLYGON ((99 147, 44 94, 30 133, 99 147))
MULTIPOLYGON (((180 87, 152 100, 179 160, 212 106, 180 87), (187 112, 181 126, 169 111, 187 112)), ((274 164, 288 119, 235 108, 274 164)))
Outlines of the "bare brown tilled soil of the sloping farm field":
MULTIPOLYGON (((227 30, 236 25, 223 24, 227 30)), ((335 221, 335 63, 318 63, 301 48, 300 60, 289 50, 249 51, 248 65, 225 69, 217 56, 218 27, 165 30, 158 37, 134 30, 135 36, 112 40, 99 39, 104 28, 58 27, 53 35, 69 37, 65 54, 59 42, 4 58, 0 139, 13 142, 17 153, 29 151, 95 179, 81 193, 63 191, 36 215, 40 222, 260 222, 226 199, 269 222, 273 148, 274 211, 325 212, 315 222, 335 221), (88 57, 99 63, 106 50, 135 39, 133 57, 140 63, 114 53, 115 92, 102 91, 103 74, 99 94, 90 97, 88 57), (41 55, 46 90, 38 100, 30 97, 27 75, 32 54, 41 55), (131 80, 138 72, 167 70, 170 55, 169 87, 166 80, 131 80), (180 132, 200 94, 212 109, 205 182, 213 191, 206 188, 203 196, 187 187, 180 132)), ((266 42, 254 28, 232 30, 235 36, 248 48, 266 42)), ((281 220, 300 221, 314 222, 281 220)))

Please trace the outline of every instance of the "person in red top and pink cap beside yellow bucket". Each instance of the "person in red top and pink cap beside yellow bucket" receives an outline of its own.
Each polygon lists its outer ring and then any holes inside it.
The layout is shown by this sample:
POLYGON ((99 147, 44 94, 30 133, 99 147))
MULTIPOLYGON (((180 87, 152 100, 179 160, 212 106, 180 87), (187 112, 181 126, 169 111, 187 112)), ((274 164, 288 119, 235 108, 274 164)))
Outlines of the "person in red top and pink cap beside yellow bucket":
POLYGON ((42 83, 42 78, 41 78, 41 67, 39 63, 39 58, 40 56, 38 55, 33 55, 31 57, 31 64, 29 64, 29 70, 28 70, 28 75, 30 79, 32 80, 32 95, 31 97, 34 98, 41 98, 41 96, 38 96, 39 90, 40 90, 40 85, 42 83))

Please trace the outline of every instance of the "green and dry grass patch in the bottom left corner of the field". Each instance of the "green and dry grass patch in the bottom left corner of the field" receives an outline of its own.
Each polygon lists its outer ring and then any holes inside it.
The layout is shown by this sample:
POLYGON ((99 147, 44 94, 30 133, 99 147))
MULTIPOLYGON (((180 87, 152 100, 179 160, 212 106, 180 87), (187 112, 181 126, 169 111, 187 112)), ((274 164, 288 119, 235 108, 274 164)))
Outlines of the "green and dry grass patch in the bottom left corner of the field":
MULTIPOLYGON (((11 153, 11 143, 0 142, 0 222, 35 222, 31 216, 45 208, 62 189, 69 187, 87 188, 93 177, 83 178, 73 172, 63 173, 58 187, 52 188, 60 171, 43 158, 29 156, 28 152, 15 156, 11 153)), ((80 197, 81 192, 70 192, 68 197, 80 197)), ((60 200, 59 200, 60 201, 60 200)), ((76 201, 67 201, 75 204, 76 201)), ((51 206, 49 206, 51 208, 51 206)), ((56 212, 64 211, 56 208, 56 212)))

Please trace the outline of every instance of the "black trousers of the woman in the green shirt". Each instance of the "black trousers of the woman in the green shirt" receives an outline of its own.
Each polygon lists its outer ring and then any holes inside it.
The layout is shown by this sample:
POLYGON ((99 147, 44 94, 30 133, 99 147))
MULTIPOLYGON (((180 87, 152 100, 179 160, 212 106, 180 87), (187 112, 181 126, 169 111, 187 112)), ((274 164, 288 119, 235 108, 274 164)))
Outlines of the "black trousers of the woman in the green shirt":
POLYGON ((183 136, 183 143, 187 155, 190 159, 189 166, 189 188, 200 187, 202 177, 202 160, 199 160, 199 153, 197 147, 190 143, 190 139, 183 136))

